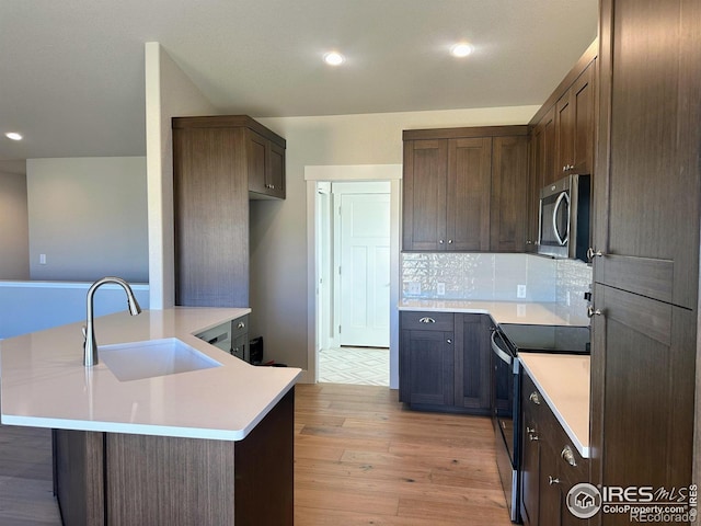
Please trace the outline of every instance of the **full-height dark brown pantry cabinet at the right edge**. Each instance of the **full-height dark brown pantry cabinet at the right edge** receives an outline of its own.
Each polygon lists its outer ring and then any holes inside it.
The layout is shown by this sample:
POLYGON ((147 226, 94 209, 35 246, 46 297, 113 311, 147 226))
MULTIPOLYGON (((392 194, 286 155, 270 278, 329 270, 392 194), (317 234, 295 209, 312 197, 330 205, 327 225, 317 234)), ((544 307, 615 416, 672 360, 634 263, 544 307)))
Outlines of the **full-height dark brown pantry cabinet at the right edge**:
POLYGON ((591 483, 679 489, 694 453, 701 474, 701 2, 602 0, 599 38, 591 483))

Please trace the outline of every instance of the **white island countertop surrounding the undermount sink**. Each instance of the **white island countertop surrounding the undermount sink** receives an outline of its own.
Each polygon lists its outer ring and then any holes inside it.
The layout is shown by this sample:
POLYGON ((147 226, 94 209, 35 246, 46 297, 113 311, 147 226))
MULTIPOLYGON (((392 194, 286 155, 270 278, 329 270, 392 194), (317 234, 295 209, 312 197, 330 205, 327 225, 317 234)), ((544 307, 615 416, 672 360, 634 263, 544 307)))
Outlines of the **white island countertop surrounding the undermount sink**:
POLYGON ((82 365, 83 323, 0 342, 3 424, 240 441, 294 387, 301 370, 255 367, 194 336, 250 309, 186 308, 95 319, 100 345, 176 338, 220 366, 119 381, 82 365))

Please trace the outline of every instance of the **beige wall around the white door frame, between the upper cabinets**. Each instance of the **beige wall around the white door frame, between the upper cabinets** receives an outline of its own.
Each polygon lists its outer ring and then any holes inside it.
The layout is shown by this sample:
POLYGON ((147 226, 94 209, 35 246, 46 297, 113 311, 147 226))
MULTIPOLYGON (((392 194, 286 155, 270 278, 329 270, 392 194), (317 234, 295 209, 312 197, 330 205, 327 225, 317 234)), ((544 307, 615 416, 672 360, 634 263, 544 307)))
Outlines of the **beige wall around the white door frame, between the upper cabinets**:
POLYGON ((256 118, 287 139, 287 199, 251 207, 251 305, 260 315, 266 356, 307 369, 313 343, 306 165, 397 164, 403 129, 526 124, 538 108, 256 118))

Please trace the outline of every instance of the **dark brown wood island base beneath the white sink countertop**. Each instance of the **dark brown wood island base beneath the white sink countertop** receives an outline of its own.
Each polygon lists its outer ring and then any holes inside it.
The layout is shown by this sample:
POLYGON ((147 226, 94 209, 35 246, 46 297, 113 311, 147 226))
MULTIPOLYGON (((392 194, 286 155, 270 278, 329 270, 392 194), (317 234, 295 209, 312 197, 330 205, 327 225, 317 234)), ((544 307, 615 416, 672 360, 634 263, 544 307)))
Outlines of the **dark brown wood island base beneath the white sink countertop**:
POLYGON ((66 525, 291 525, 294 388, 242 441, 54 430, 66 525))

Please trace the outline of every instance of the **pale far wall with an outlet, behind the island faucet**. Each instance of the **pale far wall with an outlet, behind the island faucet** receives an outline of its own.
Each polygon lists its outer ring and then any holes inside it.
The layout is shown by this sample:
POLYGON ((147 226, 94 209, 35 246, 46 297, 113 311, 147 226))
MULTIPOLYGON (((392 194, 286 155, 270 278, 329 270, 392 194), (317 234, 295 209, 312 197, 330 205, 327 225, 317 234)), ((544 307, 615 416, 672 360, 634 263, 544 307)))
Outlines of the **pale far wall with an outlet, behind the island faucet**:
POLYGON ((26 170, 31 279, 148 282, 143 157, 30 159, 26 170))

